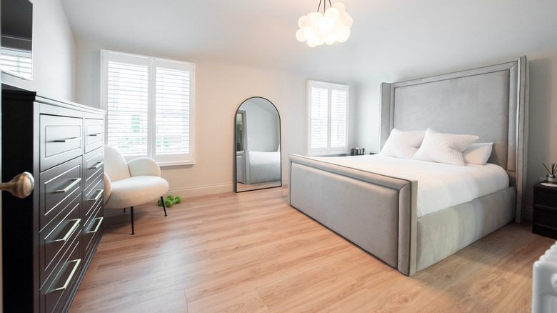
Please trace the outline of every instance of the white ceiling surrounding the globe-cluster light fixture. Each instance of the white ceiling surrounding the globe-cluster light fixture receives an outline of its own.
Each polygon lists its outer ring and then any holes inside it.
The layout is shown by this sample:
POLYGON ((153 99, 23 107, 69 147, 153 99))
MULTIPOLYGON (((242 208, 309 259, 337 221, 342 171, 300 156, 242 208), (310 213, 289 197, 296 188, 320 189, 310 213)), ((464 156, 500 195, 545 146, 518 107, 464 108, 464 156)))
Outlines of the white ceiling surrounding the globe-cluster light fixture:
POLYGON ((557 49, 555 0, 342 2, 353 17, 348 41, 310 48, 296 40, 297 21, 318 0, 61 0, 78 42, 344 81, 413 78, 557 49))

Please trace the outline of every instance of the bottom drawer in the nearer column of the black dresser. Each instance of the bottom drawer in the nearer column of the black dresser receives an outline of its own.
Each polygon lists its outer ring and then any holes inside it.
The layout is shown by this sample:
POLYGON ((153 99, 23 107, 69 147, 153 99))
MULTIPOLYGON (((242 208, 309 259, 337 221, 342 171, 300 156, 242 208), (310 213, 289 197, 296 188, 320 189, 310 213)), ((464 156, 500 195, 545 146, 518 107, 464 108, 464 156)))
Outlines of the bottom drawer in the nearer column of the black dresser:
POLYGON ((79 273, 84 267, 79 235, 81 231, 40 290, 41 312, 61 312, 66 306, 66 301, 71 297, 71 291, 76 288, 76 284, 79 284, 79 273))

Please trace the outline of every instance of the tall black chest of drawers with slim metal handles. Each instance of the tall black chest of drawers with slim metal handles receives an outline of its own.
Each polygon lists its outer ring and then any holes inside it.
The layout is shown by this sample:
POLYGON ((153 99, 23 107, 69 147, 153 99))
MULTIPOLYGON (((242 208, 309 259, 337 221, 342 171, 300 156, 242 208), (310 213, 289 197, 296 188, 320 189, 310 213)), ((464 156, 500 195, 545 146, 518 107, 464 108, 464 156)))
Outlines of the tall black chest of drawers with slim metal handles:
POLYGON ((4 312, 66 312, 103 232, 104 111, 2 86, 4 312))

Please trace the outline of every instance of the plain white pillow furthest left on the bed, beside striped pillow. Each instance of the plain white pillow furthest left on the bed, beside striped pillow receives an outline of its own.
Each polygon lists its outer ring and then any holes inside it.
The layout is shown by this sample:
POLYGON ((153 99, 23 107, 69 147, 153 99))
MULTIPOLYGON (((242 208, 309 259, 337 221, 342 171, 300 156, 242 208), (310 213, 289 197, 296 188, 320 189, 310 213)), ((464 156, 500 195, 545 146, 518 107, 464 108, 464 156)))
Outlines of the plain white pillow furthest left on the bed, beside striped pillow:
POLYGON ((400 131, 393 128, 379 154, 401 159, 412 159, 412 156, 418 151, 425 134, 426 131, 400 131))

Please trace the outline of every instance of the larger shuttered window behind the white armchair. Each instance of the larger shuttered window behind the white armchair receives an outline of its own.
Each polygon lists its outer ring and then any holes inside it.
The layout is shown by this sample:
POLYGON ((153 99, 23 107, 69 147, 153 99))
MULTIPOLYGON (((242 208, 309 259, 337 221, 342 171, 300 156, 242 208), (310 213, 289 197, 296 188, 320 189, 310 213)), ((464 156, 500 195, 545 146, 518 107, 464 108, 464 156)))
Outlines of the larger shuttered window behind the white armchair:
POLYGON ((126 159, 194 163, 194 64, 101 51, 106 143, 126 159))

